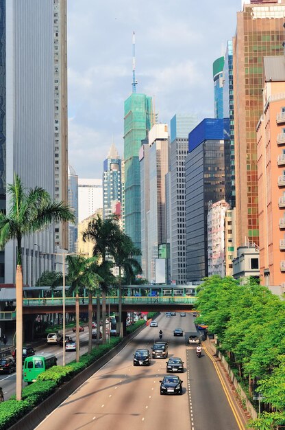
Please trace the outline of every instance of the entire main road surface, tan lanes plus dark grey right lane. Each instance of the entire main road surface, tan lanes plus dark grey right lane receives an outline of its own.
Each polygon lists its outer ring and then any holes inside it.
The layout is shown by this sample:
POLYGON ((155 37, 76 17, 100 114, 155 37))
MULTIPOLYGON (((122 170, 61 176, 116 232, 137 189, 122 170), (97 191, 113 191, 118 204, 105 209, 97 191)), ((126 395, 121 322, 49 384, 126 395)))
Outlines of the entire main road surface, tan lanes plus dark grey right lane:
MULTIPOLYGON (((62 405, 45 418, 37 430, 79 429, 179 429, 238 430, 234 413, 214 369, 211 357, 185 337, 173 337, 175 328, 195 329, 192 315, 157 319, 158 328, 147 327, 119 354, 92 375, 62 405), (169 357, 184 361, 182 396, 160 396, 160 380, 166 374, 166 361, 153 359, 149 367, 134 367, 136 348, 151 349, 158 331, 169 339, 169 357)), ((186 335, 187 337, 187 335, 186 335)))

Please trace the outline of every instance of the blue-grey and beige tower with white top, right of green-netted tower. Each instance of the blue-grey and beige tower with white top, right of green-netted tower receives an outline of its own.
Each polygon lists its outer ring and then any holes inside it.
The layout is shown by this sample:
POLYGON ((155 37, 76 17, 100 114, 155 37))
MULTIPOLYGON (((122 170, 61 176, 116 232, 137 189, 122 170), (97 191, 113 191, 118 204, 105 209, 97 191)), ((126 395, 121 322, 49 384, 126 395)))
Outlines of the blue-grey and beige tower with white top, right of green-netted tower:
POLYGON ((143 275, 149 281, 156 280, 159 247, 166 244, 165 175, 168 170, 168 126, 155 124, 149 131, 148 143, 140 147, 142 264, 143 275))

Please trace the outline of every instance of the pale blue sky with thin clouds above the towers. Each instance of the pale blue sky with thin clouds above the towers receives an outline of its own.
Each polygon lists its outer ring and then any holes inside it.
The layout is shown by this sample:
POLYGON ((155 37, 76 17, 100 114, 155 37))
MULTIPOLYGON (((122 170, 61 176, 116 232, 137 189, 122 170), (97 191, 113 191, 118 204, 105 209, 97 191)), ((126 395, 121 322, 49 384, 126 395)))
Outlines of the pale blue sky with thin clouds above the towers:
POLYGON ((123 157, 124 100, 155 98, 158 122, 214 116, 212 63, 236 31, 240 0, 67 0, 69 163, 101 178, 114 142, 123 157))

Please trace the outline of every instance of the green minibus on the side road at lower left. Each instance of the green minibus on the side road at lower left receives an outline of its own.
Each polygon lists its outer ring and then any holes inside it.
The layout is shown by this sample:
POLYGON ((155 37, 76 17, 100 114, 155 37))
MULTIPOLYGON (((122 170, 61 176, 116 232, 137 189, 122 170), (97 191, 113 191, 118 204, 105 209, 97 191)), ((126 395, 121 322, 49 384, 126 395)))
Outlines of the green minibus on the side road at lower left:
POLYGON ((49 367, 56 366, 57 361, 54 354, 43 353, 27 357, 23 367, 24 381, 32 384, 40 373, 45 372, 49 367))

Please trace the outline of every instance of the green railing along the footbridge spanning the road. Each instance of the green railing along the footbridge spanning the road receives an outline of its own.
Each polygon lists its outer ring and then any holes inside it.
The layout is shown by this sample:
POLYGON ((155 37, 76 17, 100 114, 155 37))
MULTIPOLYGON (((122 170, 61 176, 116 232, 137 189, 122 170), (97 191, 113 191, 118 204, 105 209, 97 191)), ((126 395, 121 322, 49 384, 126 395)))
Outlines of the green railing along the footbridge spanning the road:
MULTIPOLYGON (((194 304, 195 296, 164 296, 164 297, 122 297, 123 304, 194 304)), ((119 297, 107 297, 107 304, 118 304, 119 297)), ((88 304, 88 297, 79 297, 80 304, 88 304)), ((102 298, 100 297, 100 303, 102 298)), ((23 306, 62 306, 62 297, 23 299, 23 306)), ((74 305, 75 297, 65 297, 65 306, 74 305)), ((97 304, 97 297, 92 297, 92 304, 97 304)))

